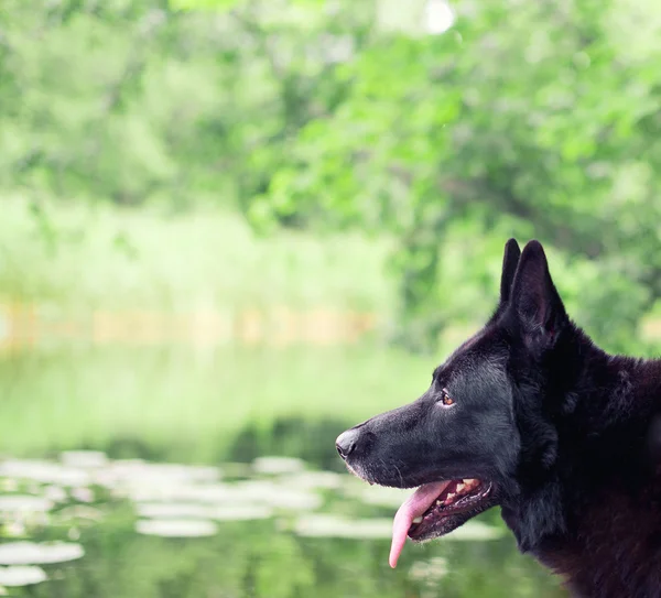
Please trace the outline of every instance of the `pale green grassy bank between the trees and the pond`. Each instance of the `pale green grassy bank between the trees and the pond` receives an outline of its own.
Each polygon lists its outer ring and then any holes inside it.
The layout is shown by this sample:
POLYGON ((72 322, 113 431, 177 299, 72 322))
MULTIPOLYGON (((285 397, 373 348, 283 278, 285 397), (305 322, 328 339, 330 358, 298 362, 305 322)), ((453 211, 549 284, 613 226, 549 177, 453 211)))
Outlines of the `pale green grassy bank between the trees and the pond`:
POLYGON ((220 211, 172 216, 24 198, 0 206, 0 301, 65 311, 333 306, 384 312, 387 247, 357 235, 256 236, 220 211))

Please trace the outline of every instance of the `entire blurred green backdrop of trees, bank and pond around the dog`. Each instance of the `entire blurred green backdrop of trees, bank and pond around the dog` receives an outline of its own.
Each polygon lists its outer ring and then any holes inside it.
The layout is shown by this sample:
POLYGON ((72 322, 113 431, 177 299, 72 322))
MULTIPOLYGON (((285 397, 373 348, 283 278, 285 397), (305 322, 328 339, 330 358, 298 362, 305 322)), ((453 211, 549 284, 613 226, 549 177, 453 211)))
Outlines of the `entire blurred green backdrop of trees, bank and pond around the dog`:
POLYGON ((658 352, 659 64, 651 0, 3 0, 0 592, 562 595, 497 511, 391 572, 333 442, 512 236, 658 352))

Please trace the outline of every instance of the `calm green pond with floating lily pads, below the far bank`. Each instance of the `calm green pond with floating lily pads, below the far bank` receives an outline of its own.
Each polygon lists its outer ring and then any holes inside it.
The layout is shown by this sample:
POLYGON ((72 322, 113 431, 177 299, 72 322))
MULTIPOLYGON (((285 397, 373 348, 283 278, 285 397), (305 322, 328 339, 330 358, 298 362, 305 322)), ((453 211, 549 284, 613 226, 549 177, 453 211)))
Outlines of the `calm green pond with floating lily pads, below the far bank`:
POLYGON ((0 595, 563 596, 497 510, 388 566, 408 491, 346 474, 333 439, 414 399, 427 366, 366 348, 0 357, 0 595))

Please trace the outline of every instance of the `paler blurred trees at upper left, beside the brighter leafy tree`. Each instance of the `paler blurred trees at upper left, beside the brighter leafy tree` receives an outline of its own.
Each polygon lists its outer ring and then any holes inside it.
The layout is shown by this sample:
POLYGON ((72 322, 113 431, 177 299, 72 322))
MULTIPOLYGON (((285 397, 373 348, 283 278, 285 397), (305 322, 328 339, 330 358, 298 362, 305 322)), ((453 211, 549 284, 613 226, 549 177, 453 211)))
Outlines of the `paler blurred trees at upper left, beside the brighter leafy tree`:
POLYGON ((163 0, 8 0, 1 18, 0 183, 177 208, 247 209, 296 131, 342 99, 333 53, 368 32, 346 7, 329 30, 316 10, 256 3, 209 15, 163 0))

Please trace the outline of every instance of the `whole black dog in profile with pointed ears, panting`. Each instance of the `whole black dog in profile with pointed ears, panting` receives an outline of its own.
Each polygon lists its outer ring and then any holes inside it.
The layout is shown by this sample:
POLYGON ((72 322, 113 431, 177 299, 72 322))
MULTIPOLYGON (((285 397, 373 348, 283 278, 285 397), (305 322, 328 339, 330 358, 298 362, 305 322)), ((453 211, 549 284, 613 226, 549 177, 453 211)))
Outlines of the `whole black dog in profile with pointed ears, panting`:
POLYGON ((420 487, 407 536, 494 505, 522 552, 578 596, 661 596, 661 361, 611 356, 567 317, 542 246, 505 248, 500 302, 415 402, 353 427, 337 450, 365 480, 420 487))

